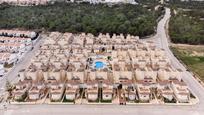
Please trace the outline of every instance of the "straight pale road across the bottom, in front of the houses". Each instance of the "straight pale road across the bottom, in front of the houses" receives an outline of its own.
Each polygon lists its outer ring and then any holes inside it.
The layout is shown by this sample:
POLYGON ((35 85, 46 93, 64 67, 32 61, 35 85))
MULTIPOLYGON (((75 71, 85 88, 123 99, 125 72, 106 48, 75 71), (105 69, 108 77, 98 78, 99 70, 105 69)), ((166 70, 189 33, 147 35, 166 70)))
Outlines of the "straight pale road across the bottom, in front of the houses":
MULTIPOLYGON (((0 112, 1 114, 1 112, 0 112)), ((1 115, 204 115, 194 107, 119 105, 22 105, 1 115)))

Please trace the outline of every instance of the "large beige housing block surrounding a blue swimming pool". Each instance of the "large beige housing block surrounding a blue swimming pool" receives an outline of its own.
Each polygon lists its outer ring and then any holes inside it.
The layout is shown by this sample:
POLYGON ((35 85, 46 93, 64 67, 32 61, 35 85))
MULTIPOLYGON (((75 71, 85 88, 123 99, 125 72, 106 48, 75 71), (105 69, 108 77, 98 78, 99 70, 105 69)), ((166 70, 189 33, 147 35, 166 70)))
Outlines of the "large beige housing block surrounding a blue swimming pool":
POLYGON ((137 36, 52 32, 19 71, 12 102, 191 103, 181 70, 137 36))

